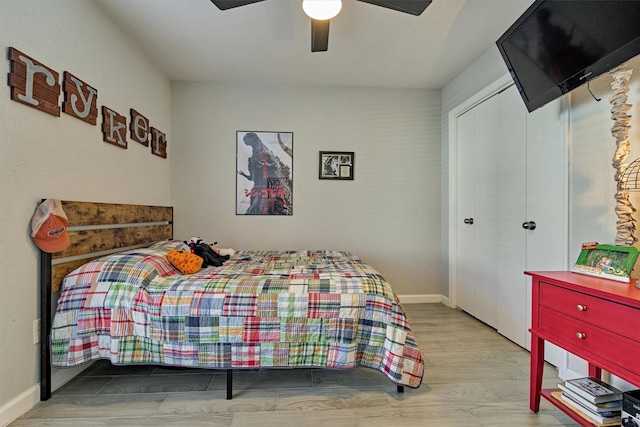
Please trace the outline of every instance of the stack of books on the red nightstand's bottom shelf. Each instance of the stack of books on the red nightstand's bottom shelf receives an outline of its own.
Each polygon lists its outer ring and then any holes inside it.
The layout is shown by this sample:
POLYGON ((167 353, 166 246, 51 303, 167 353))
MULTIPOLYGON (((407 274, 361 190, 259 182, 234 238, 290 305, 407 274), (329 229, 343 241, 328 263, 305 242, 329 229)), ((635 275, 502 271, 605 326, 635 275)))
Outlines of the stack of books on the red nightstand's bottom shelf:
POLYGON ((560 399, 574 412, 597 425, 620 425, 622 391, 594 378, 576 378, 558 384, 560 399))

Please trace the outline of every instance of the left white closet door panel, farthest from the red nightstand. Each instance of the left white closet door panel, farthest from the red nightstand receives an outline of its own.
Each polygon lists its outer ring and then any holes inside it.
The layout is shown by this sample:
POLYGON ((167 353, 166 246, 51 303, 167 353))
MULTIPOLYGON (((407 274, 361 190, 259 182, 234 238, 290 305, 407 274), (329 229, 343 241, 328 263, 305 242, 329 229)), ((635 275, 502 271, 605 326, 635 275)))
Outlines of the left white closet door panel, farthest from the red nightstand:
POLYGON ((496 326, 495 252, 499 229, 496 154, 499 101, 490 98, 458 118, 458 307, 496 326))

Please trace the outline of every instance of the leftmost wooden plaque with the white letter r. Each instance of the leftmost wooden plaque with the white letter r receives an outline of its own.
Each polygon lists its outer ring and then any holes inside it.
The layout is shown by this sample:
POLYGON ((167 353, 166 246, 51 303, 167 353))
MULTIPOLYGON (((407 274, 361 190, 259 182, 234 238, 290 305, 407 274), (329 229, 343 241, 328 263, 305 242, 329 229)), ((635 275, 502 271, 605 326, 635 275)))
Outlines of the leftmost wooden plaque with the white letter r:
POLYGON ((12 47, 9 61, 11 99, 60 117, 58 73, 12 47))

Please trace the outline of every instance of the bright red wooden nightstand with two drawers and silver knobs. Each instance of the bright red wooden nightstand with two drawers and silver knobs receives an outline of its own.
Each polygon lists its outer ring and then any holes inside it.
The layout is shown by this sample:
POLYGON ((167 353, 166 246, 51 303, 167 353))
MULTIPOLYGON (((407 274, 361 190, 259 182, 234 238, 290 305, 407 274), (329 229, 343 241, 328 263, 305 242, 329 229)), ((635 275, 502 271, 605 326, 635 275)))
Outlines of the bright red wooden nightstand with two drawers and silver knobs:
POLYGON ((640 289, 635 280, 617 282, 568 271, 526 271, 532 277, 531 377, 529 406, 540 396, 583 426, 589 422, 542 390, 544 342, 589 363, 589 375, 602 370, 640 387, 640 289))

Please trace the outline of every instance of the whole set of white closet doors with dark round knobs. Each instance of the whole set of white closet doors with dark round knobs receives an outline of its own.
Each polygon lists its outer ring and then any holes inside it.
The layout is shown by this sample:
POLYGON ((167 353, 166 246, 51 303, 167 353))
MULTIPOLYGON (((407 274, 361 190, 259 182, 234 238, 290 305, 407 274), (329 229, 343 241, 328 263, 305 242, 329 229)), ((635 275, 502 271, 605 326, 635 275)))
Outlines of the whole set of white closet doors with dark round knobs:
POLYGON ((458 306, 526 348, 531 290, 524 271, 566 268, 560 105, 528 113, 510 86, 458 117, 458 306))

